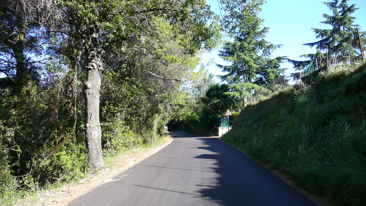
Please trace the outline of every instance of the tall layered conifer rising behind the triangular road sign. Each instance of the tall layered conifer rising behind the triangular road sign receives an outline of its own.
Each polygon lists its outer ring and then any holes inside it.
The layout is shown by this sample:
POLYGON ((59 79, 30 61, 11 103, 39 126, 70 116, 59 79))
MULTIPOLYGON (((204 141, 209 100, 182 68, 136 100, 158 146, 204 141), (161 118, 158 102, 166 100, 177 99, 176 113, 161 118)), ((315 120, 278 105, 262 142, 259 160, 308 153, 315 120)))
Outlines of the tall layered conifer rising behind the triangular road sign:
POLYGON ((242 97, 248 96, 252 89, 258 89, 257 84, 265 84, 268 80, 278 77, 281 72, 280 64, 285 56, 270 58, 272 52, 280 48, 264 38, 269 28, 263 27, 263 20, 256 18, 248 25, 242 25, 232 34, 233 42, 224 43, 219 56, 232 65, 217 65, 221 71, 228 74, 220 76, 221 80, 231 85, 233 92, 228 94, 242 97))

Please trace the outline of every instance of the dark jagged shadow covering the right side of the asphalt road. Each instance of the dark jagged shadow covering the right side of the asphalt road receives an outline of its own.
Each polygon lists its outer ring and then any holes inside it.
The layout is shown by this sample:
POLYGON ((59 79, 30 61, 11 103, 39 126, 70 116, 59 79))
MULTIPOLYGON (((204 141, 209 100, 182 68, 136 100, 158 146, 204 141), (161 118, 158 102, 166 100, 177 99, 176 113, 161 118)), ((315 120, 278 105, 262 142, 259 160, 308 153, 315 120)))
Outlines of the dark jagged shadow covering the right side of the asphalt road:
POLYGON ((197 155, 197 159, 215 160, 216 181, 196 185, 203 198, 209 198, 219 205, 273 205, 311 206, 316 205, 306 196, 285 183, 236 148, 217 138, 199 138, 208 154, 197 155), (209 154, 214 152, 215 154, 209 154))

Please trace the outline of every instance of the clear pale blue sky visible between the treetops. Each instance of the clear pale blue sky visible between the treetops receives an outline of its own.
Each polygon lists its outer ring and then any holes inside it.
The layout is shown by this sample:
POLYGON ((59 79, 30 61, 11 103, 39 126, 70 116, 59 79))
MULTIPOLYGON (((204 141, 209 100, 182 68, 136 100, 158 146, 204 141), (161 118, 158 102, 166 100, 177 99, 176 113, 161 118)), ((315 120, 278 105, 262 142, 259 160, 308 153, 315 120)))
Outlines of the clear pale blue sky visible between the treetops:
MULTIPOLYGON (((217 0, 206 0, 211 5, 212 11, 220 15, 217 0)), ((356 4, 359 8, 352 16, 356 17, 354 24, 360 25, 360 31, 366 30, 366 0, 350 0, 348 4, 356 4)), ((329 26, 321 24, 324 21, 322 14, 331 15, 329 8, 321 0, 267 0, 262 6, 259 17, 265 19, 265 27, 270 27, 266 40, 273 44, 283 44, 280 49, 273 52, 273 58, 277 56, 288 56, 290 59, 302 60, 298 56, 315 53, 315 48, 310 49, 302 44, 317 41, 311 27, 328 29, 329 26)), ((220 49, 220 48, 218 48, 220 49)), ((223 73, 216 66, 230 65, 217 56, 218 50, 201 56, 201 63, 213 59, 213 64, 207 68, 210 73, 222 75, 223 73)), ((283 68, 286 75, 294 72, 292 64, 284 63, 283 68)), ((218 80, 216 79, 218 82, 218 80)))

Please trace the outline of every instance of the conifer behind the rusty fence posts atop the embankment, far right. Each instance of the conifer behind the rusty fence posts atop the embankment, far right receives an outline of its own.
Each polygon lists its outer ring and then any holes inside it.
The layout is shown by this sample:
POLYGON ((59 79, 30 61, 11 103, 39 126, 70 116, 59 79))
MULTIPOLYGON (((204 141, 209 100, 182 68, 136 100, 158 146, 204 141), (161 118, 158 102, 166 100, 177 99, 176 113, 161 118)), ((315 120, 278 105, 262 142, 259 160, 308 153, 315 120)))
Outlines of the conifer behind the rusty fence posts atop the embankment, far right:
MULTIPOLYGON (((332 29, 315 29, 311 28, 319 41, 303 44, 310 48, 317 49, 316 54, 306 54, 300 57, 306 57, 309 60, 296 61, 290 60, 296 69, 310 69, 315 66, 315 58, 318 65, 326 65, 326 49, 328 49, 328 57, 334 63, 345 62, 353 63, 355 60, 361 59, 357 27, 353 25, 355 17, 351 16, 359 8, 356 4, 348 5, 349 0, 333 0, 324 2, 332 11, 332 15, 323 14, 325 21, 321 22, 325 25, 332 26, 332 29)), ((360 33, 363 45, 366 40, 366 32, 360 33)))

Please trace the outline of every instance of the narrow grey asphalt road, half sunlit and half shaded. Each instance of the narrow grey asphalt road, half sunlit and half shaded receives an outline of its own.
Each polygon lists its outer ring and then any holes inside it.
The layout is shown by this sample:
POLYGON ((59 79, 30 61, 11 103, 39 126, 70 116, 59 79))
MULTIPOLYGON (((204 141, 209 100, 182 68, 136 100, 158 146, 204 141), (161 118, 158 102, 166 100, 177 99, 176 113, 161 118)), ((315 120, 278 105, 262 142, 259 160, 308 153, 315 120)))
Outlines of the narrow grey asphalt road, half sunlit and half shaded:
POLYGON ((217 138, 171 134, 167 147, 69 205, 316 205, 217 138))

